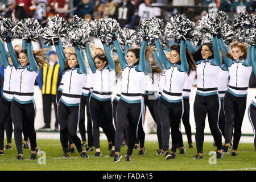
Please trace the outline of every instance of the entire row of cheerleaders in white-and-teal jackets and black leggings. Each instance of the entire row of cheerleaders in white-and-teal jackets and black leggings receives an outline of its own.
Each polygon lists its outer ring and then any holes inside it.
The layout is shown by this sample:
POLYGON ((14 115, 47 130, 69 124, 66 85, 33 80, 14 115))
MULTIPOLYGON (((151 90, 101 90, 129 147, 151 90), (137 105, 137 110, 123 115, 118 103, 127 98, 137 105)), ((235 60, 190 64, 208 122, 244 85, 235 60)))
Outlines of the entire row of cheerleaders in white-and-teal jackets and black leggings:
MULTIPOLYGON (((15 52, 10 36, 6 36, 6 43, 9 53, 4 44, 0 43, 5 68, 3 97, 0 101, 0 152, 3 152, 5 121, 11 115, 18 151, 16 159, 24 159, 22 132, 30 139, 31 159, 36 159, 39 148, 34 128, 36 107, 33 94, 38 67, 48 64, 46 49, 33 51, 31 40, 23 40, 22 51, 15 52)), ((82 158, 89 157, 77 137, 77 124, 80 115, 85 112, 85 105, 88 148, 89 151, 93 146, 96 148, 95 157, 102 154, 100 127, 109 143, 112 143, 110 156, 114 157, 114 162, 122 158, 120 152, 124 133, 128 143, 125 160, 131 160, 137 138, 140 142, 139 154, 145 154, 143 120, 146 105, 157 126, 157 155, 162 154, 165 159, 176 159, 177 149, 180 154, 185 154, 180 122, 183 118, 189 147, 193 147, 189 125, 189 92, 195 75, 197 92, 193 110, 197 154, 193 159, 203 159, 206 115, 216 143, 217 158, 222 159, 224 153, 229 153, 233 127, 232 156, 237 156, 251 69, 256 73, 255 45, 239 42, 225 45, 218 34, 213 36, 212 42, 197 48, 189 41, 180 41, 164 50, 157 39, 154 50, 147 47, 147 35, 144 35, 141 47, 126 46, 123 52, 113 32, 113 44, 117 50, 117 56, 113 56, 111 47, 105 42, 102 42, 104 50, 98 48, 93 50, 93 54, 90 46, 85 51, 77 46, 67 47, 64 51, 59 39, 53 39, 53 43, 63 71, 56 95, 63 158, 69 157, 68 142, 75 144, 82 158), (86 67, 85 63, 89 66, 86 67), (112 102, 115 82, 117 95, 112 102), (225 137, 224 146, 221 133, 225 137)), ((255 133, 256 97, 249 105, 248 114, 255 133)), ((254 146, 256 149, 255 139, 254 146)))

